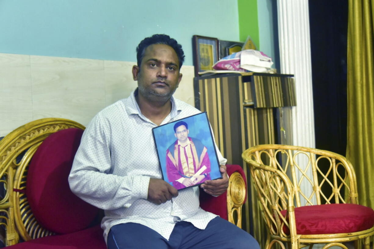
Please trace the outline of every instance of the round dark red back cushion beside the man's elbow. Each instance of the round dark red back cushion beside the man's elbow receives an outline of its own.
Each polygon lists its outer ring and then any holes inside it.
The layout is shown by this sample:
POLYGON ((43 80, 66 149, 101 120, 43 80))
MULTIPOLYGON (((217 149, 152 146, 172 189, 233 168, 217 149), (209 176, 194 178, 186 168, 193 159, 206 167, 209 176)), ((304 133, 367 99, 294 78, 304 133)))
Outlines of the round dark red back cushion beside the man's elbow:
POLYGON ((82 133, 70 128, 47 137, 35 152, 27 173, 26 196, 35 218, 58 234, 87 228, 99 211, 73 194, 68 183, 82 133))

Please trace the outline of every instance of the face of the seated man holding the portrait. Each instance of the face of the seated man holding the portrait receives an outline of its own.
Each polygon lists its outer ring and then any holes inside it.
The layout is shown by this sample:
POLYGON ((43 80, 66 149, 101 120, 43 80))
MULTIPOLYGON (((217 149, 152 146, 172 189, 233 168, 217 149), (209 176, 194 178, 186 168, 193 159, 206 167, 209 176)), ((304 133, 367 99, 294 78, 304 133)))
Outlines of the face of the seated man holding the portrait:
POLYGON ((145 49, 140 68, 132 67, 139 93, 148 100, 168 100, 182 79, 175 50, 165 44, 152 44, 145 49))

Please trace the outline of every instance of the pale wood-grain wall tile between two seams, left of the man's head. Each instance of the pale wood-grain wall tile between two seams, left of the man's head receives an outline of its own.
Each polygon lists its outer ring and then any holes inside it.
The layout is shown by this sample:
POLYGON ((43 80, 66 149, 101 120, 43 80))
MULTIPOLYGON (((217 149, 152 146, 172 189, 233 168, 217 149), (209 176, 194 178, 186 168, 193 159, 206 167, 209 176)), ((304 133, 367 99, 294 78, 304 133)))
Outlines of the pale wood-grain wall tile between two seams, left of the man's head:
POLYGON ((104 61, 31 56, 33 119, 88 124, 105 107, 104 61))

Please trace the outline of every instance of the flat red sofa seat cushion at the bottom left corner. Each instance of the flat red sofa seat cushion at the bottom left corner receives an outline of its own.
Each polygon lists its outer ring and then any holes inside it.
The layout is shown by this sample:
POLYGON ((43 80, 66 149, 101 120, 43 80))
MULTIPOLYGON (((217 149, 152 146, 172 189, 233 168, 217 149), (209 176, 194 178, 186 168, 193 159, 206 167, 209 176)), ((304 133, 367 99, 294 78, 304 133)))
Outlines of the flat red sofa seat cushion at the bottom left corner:
POLYGON ((9 249, 107 249, 99 225, 76 233, 52 235, 7 247, 9 249))

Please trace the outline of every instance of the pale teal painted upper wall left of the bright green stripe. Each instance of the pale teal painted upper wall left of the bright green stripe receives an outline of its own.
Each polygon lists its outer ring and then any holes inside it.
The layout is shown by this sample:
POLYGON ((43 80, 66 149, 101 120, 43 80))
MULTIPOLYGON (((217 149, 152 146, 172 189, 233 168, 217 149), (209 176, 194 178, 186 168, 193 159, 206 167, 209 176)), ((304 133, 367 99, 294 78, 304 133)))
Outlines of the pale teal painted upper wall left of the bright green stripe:
POLYGON ((193 65, 194 34, 239 40, 237 0, 0 0, 0 53, 136 61, 169 34, 193 65))

